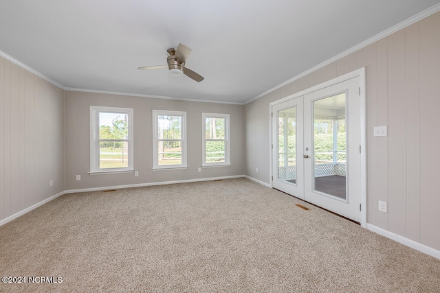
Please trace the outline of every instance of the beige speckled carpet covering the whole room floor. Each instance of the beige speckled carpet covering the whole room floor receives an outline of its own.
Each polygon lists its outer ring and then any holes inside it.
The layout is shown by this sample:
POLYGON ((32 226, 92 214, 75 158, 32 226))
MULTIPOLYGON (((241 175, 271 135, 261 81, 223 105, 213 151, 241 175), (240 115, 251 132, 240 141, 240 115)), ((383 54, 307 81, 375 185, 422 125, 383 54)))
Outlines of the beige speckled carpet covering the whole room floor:
POLYGON ((66 194, 0 226, 0 274, 63 280, 1 292, 440 290, 438 259, 245 178, 66 194))

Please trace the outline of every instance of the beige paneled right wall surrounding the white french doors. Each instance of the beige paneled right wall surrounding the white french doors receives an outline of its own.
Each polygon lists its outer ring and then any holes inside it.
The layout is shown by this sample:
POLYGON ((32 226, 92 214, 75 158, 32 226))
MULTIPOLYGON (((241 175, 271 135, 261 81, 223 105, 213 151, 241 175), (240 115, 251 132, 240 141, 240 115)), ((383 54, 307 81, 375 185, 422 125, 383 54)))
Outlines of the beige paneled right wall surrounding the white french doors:
POLYGON ((440 250, 439 32, 440 12, 246 104, 245 174, 270 183, 270 102, 366 67, 367 222, 440 250))

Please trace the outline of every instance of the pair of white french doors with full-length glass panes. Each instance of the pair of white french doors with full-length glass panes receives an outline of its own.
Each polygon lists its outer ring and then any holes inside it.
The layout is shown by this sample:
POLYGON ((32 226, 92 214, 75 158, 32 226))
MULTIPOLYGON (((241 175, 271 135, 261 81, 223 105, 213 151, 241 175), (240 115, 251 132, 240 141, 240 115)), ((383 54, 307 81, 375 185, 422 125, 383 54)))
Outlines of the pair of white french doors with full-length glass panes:
POLYGON ((272 186, 360 222, 359 78, 272 107, 272 186))

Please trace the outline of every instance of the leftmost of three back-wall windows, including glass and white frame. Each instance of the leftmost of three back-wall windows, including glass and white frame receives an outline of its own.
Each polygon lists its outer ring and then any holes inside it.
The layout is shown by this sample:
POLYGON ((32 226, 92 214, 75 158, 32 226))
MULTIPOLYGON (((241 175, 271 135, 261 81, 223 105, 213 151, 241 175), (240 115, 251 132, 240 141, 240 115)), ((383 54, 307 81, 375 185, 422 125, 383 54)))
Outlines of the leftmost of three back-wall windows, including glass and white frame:
POLYGON ((133 109, 90 106, 90 172, 133 170, 133 109))

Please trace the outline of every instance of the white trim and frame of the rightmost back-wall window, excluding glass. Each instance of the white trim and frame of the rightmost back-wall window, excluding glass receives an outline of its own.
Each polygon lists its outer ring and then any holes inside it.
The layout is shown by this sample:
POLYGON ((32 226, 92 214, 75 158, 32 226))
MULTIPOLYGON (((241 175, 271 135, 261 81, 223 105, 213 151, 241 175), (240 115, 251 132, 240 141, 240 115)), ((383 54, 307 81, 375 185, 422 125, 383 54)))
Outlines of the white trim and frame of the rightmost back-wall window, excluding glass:
POLYGON ((230 115, 221 113, 201 113, 202 133, 201 133, 201 166, 202 167, 223 167, 231 165, 230 158, 230 115), (206 118, 224 118, 225 119, 225 161, 220 163, 206 163, 206 118))

